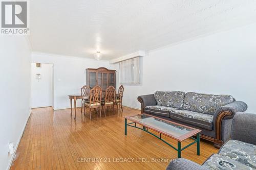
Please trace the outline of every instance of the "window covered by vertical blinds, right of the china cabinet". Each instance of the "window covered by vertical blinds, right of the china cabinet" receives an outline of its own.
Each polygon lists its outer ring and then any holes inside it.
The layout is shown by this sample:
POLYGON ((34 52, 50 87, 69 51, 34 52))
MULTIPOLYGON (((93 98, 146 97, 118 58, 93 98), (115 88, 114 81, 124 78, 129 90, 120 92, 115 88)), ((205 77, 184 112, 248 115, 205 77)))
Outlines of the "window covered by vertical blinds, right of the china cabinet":
POLYGON ((140 84, 140 58, 119 62, 120 84, 140 84))

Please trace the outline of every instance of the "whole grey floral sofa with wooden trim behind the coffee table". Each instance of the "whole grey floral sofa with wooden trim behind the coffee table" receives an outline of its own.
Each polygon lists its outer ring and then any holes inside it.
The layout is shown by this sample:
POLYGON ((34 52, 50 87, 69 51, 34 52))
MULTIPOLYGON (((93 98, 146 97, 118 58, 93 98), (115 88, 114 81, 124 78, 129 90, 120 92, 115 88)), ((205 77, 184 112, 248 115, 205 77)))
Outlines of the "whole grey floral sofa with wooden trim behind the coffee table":
POLYGON ((156 91, 138 96, 138 101, 141 113, 200 129, 201 138, 214 142, 217 148, 229 139, 234 114, 247 109, 246 103, 231 95, 182 91, 156 91))

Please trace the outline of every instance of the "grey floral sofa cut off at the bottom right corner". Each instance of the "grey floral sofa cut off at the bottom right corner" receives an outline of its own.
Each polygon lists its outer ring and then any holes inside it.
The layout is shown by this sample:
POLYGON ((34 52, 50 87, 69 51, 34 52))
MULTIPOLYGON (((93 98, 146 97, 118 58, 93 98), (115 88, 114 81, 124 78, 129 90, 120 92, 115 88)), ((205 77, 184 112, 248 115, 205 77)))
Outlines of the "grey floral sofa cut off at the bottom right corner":
POLYGON ((256 169, 256 114, 238 112, 233 118, 231 139, 218 154, 213 154, 203 165, 187 159, 175 159, 167 170, 241 170, 256 169))

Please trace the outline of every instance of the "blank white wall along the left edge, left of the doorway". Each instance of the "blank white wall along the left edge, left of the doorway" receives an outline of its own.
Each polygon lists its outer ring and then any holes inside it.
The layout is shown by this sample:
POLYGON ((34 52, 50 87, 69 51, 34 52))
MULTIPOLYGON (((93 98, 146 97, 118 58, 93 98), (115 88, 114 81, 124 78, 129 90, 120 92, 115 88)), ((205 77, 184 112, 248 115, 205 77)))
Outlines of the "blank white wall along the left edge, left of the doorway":
POLYGON ((30 115, 30 47, 24 36, 0 37, 0 169, 8 169, 30 115))

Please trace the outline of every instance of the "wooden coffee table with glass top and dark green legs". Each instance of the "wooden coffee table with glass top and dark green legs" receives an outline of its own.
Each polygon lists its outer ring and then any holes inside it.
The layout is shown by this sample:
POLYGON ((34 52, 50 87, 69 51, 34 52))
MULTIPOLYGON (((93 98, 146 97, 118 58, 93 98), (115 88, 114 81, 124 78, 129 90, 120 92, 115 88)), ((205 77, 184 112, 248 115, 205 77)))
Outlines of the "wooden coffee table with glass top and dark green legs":
POLYGON ((150 114, 138 114, 133 116, 124 116, 124 134, 127 135, 127 126, 141 129, 158 139, 162 140, 164 143, 168 144, 170 147, 175 149, 178 152, 178 158, 181 158, 181 151, 188 148, 190 145, 197 143, 197 155, 200 155, 200 132, 201 130, 184 126, 181 124, 174 123, 172 121, 152 116, 150 114), (127 123, 127 120, 130 120, 132 123, 127 123), (141 125, 137 126, 137 124, 141 125), (159 136, 148 131, 151 129, 159 133, 159 136), (172 144, 163 140, 161 135, 168 136, 178 141, 178 148, 175 148, 172 144), (197 138, 193 136, 197 135, 197 138), (185 147, 181 148, 181 142, 185 139, 194 139, 192 143, 189 143, 185 147))

